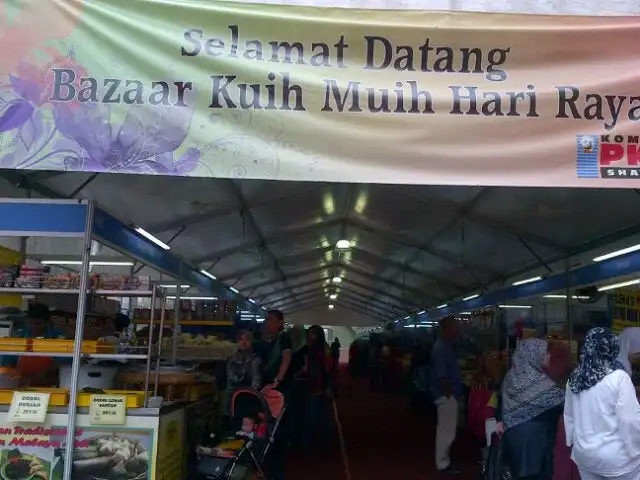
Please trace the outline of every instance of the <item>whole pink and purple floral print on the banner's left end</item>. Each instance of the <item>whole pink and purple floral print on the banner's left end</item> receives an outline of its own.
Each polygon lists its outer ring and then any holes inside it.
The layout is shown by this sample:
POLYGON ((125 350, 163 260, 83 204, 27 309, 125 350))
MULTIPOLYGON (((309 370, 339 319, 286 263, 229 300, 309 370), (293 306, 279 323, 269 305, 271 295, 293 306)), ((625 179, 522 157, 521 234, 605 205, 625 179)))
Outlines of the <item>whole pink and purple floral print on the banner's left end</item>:
POLYGON ((195 92, 187 95, 191 107, 133 105, 118 122, 103 104, 51 102, 54 68, 74 70, 76 87, 87 72, 73 49, 66 56, 43 52, 42 67, 20 61, 0 85, 0 168, 185 176, 202 165, 199 149, 176 154, 191 125, 195 92))

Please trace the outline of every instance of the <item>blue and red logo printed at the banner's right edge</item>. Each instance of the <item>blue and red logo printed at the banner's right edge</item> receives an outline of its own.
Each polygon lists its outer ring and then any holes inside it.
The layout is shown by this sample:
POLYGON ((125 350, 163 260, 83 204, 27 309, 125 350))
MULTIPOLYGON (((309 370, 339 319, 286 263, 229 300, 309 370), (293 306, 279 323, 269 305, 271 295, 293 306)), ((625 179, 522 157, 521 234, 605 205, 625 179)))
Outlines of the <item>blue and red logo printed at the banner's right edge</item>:
POLYGON ((640 178, 639 135, 578 135, 578 178, 640 178))

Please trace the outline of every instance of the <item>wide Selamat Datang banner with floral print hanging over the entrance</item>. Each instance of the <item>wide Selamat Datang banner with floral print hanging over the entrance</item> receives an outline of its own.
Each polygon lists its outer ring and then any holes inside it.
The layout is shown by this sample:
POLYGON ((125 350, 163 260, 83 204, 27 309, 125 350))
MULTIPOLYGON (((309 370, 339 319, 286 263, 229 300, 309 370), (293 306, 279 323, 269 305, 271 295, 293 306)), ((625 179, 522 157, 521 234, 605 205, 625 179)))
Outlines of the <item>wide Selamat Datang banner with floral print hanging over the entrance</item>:
POLYGON ((0 168, 640 186, 637 17, 4 0, 0 168))

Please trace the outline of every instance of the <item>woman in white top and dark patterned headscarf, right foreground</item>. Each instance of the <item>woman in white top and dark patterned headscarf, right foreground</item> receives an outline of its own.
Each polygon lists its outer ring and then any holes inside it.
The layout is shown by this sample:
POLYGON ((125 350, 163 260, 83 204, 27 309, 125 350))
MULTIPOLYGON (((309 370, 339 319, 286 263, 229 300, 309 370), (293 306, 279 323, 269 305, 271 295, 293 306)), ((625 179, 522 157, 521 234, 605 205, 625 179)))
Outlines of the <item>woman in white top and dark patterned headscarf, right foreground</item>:
POLYGON ((593 328, 569 377, 564 428, 582 480, 640 478, 640 405, 619 353, 611 330, 593 328))

